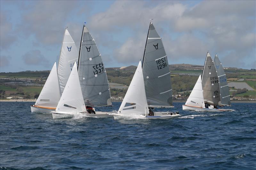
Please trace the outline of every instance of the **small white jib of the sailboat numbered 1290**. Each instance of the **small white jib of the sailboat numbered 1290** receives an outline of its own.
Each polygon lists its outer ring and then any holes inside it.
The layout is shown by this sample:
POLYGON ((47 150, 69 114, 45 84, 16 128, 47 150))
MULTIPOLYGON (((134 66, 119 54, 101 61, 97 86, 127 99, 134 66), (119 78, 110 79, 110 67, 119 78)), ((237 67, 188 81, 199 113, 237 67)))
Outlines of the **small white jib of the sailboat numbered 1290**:
POLYGON ((196 81, 196 84, 190 93, 185 105, 204 107, 204 96, 202 89, 201 75, 196 81))

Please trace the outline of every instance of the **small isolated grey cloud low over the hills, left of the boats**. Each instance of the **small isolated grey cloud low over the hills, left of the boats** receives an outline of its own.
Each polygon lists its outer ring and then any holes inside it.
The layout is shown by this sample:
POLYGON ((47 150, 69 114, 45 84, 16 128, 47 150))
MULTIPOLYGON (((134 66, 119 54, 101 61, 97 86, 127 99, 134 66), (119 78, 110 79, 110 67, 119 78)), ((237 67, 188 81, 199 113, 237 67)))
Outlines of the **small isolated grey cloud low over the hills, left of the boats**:
POLYGON ((21 56, 26 65, 44 65, 48 66, 49 61, 41 54, 39 50, 30 50, 21 56))

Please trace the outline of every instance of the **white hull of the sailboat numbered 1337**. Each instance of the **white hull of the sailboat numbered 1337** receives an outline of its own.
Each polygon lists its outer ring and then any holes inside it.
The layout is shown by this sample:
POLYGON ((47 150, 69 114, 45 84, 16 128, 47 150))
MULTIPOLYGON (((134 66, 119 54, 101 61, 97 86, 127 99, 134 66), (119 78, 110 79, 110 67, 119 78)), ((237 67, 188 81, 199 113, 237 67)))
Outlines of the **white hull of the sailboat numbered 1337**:
POLYGON ((94 117, 94 118, 108 118, 113 117, 112 112, 96 112, 96 114, 87 114, 87 113, 66 113, 66 112, 52 112, 53 119, 62 119, 62 118, 73 118, 73 117, 94 117))

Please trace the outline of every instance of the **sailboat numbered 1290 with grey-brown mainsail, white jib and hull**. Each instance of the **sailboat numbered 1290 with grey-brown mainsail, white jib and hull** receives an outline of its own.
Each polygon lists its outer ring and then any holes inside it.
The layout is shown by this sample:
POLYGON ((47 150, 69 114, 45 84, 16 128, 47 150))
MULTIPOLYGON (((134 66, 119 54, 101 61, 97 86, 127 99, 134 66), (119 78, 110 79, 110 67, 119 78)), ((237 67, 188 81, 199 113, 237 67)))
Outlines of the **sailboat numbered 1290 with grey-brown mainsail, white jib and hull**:
POLYGON ((182 105, 182 109, 209 112, 234 111, 231 109, 214 108, 214 105, 221 106, 220 96, 221 91, 217 70, 211 55, 207 52, 202 81, 200 75, 186 104, 182 105))

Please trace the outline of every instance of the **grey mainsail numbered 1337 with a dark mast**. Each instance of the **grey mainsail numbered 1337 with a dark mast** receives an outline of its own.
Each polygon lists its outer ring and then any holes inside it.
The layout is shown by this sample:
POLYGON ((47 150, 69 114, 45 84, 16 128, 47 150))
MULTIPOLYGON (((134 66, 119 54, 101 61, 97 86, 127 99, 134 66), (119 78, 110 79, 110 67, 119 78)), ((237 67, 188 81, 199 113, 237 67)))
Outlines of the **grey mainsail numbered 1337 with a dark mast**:
POLYGON ((78 75, 86 106, 110 106, 108 79, 100 52, 86 26, 78 58, 78 75))

